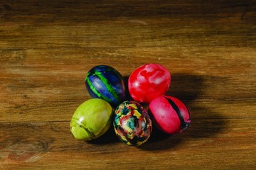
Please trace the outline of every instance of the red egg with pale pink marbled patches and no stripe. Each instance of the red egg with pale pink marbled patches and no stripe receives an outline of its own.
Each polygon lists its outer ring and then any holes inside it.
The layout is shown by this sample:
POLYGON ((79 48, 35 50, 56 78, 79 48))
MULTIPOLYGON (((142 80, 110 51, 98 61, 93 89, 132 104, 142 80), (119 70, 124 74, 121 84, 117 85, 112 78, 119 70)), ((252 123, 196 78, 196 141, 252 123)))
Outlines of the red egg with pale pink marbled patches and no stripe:
POLYGON ((166 94, 170 84, 171 74, 160 64, 144 64, 135 69, 128 79, 129 94, 140 103, 149 103, 166 94))

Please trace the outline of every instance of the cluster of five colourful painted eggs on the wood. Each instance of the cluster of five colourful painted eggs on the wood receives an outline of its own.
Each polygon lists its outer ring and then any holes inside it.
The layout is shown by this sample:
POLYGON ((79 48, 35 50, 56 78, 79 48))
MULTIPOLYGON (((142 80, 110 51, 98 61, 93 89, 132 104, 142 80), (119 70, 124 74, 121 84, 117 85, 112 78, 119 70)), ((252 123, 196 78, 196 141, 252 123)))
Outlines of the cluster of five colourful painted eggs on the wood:
POLYGON ((173 96, 165 96, 171 74, 161 64, 144 64, 132 72, 128 90, 133 101, 126 101, 124 78, 116 69, 98 65, 85 77, 92 99, 82 103, 73 114, 70 131, 75 139, 95 140, 110 126, 119 140, 139 146, 149 139, 154 127, 170 135, 181 133, 191 123, 186 105, 173 96), (142 106, 147 104, 148 111, 142 106))

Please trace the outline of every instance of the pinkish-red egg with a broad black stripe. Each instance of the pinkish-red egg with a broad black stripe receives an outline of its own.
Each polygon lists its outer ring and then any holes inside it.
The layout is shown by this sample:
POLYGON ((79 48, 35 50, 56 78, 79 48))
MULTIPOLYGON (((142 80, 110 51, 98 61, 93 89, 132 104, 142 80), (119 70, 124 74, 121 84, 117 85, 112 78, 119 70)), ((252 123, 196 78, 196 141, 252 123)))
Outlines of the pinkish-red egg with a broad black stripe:
POLYGON ((172 96, 154 98, 149 103, 149 111, 156 128, 170 135, 181 133, 191 123, 187 106, 172 96))

